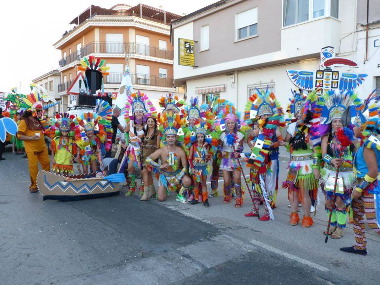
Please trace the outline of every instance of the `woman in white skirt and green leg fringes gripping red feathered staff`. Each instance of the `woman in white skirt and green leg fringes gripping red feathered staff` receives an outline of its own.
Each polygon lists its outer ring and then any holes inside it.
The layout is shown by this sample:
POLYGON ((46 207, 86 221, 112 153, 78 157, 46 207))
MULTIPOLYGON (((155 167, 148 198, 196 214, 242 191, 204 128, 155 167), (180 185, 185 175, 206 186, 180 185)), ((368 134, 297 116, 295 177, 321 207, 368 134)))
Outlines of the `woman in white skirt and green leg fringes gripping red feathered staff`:
POLYGON ((332 239, 340 239, 343 236, 347 210, 355 184, 352 168, 355 147, 351 144, 349 148, 344 148, 344 153, 341 154, 342 145, 337 139, 336 134, 338 129, 343 127, 342 116, 344 112, 353 102, 350 98, 350 92, 335 94, 333 90, 326 92, 322 99, 323 110, 321 116, 326 118, 323 123, 329 126, 328 134, 322 138, 322 158, 325 162, 321 170, 322 191, 325 194, 325 210, 328 217, 330 211, 332 211, 328 235, 331 235, 332 239), (334 184, 338 168, 338 183, 334 194, 334 184), (335 197, 333 197, 334 195, 335 197), (334 198, 336 203, 332 205, 334 198))

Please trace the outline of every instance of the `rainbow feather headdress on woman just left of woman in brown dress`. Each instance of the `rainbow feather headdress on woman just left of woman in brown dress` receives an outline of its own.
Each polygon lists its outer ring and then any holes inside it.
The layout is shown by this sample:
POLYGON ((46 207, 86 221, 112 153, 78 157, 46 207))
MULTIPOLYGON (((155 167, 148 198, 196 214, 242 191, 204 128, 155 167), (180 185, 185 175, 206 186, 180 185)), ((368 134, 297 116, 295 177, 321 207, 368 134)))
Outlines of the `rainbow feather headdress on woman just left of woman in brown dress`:
POLYGON ((149 117, 157 116, 157 112, 152 104, 152 101, 146 94, 140 91, 137 91, 137 93, 132 93, 131 96, 127 97, 124 110, 124 118, 127 123, 129 123, 131 119, 133 120, 136 111, 142 111, 144 113, 144 122, 146 122, 149 117))

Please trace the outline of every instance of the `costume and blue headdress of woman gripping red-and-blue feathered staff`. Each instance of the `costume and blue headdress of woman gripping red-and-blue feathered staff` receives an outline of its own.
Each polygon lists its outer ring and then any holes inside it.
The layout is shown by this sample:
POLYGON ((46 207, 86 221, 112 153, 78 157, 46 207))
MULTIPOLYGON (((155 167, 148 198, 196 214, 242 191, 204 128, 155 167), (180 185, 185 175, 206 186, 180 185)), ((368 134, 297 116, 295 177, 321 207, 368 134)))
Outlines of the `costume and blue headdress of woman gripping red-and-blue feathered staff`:
MULTIPOLYGON (((334 119, 342 119, 342 116, 347 108, 354 110, 353 102, 351 100, 352 91, 347 91, 345 94, 334 93, 333 90, 328 91, 322 97, 323 109, 322 117, 326 118, 323 122, 330 128, 328 142, 327 142, 327 153, 323 154, 324 166, 321 170, 322 175, 322 191, 325 194, 326 201, 333 202, 334 196, 334 184, 336 179, 337 169, 330 161, 334 158, 344 159, 344 163, 339 167, 338 183, 335 190, 335 195, 342 199, 344 207, 338 207, 337 204, 331 205, 332 208, 325 206, 327 216, 330 216, 330 211, 332 211, 331 216, 331 227, 339 227, 341 229, 346 226, 347 211, 350 205, 350 197, 355 186, 354 175, 353 175, 353 153, 351 148, 342 147, 341 142, 337 138, 336 134, 333 135, 333 130, 331 127, 331 122, 334 119)), ((353 147, 353 146, 352 146, 353 147)))

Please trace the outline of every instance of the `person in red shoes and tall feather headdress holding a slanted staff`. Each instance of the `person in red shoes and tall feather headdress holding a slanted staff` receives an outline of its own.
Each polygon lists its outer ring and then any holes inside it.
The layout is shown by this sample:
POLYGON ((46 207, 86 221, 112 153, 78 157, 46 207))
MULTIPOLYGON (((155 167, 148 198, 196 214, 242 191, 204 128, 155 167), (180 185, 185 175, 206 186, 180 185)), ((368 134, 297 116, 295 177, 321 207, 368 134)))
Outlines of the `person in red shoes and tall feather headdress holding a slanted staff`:
MULTIPOLYGON (((266 88, 266 91, 257 89, 246 104, 244 120, 248 126, 254 125, 259 133, 248 138, 248 145, 252 151, 258 150, 255 144, 264 140, 267 144, 265 160, 257 161, 251 166, 250 180, 257 191, 254 191, 254 209, 245 214, 246 217, 257 216, 260 201, 264 202, 265 214, 261 221, 268 221, 271 217, 271 209, 275 207, 275 200, 278 189, 279 173, 279 146, 284 145, 284 138, 280 126, 284 126, 283 111, 274 93, 266 88), (255 124, 256 122, 260 122, 255 124), (259 138, 259 135, 260 138, 259 138), (264 166, 264 167, 263 167, 264 166), (261 171, 259 171, 259 169, 261 171), (260 173, 259 173, 260 172, 260 173)), ((253 130, 257 131, 257 130, 253 130)), ((261 149, 260 151, 264 151, 261 149)))

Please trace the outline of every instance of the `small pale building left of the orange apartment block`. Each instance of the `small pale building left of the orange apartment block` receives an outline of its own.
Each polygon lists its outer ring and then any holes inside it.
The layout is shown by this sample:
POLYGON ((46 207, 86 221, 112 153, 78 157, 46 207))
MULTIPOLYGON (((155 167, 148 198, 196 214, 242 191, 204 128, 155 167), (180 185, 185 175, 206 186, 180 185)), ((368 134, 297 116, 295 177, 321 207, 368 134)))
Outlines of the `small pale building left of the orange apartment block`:
MULTIPOLYGON (((58 92, 59 85, 61 84, 61 73, 57 69, 41 75, 40 77, 32 80, 32 82, 44 87, 50 97, 57 101, 61 100, 61 95, 58 92)), ((48 103, 50 104, 52 102, 48 103)), ((53 117, 56 112, 61 112, 61 110, 62 105, 60 103, 55 105, 54 108, 49 108, 46 112, 49 117, 53 117)))

